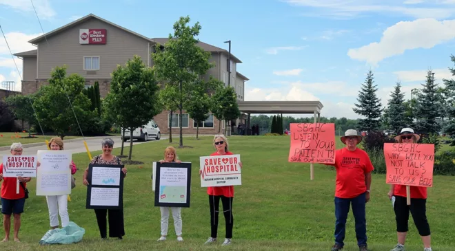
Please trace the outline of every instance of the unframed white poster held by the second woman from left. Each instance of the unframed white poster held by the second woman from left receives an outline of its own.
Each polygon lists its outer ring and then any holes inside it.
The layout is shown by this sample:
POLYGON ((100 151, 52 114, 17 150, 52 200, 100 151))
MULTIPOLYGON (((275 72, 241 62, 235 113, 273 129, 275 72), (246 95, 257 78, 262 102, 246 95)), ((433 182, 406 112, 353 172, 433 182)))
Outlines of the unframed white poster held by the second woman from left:
POLYGON ((71 151, 38 151, 37 196, 71 193, 71 157, 71 151))

